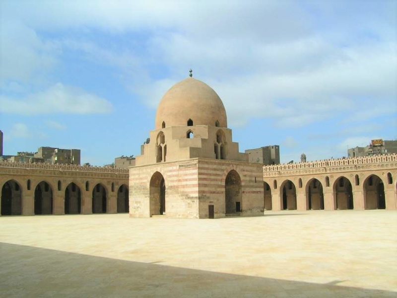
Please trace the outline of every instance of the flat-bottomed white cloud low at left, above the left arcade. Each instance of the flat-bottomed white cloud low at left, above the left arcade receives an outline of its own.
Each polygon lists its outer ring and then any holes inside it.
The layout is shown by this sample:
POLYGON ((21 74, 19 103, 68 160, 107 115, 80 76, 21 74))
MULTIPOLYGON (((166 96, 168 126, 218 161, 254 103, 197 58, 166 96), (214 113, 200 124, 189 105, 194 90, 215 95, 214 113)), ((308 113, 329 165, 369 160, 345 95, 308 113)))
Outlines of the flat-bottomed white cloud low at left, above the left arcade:
POLYGON ((45 91, 22 99, 0 96, 0 112, 21 115, 39 114, 102 114, 113 111, 112 104, 104 98, 89 94, 79 88, 57 83, 45 91))

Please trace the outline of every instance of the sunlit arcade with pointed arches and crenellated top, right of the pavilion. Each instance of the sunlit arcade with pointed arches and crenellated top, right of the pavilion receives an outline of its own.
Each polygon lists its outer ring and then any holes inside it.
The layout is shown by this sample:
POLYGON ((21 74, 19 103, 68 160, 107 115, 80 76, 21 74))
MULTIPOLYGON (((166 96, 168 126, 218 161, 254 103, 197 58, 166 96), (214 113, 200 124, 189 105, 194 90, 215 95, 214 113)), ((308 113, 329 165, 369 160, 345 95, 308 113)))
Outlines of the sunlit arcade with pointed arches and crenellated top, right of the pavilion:
POLYGON ((264 166, 265 210, 397 209, 397 154, 264 166))

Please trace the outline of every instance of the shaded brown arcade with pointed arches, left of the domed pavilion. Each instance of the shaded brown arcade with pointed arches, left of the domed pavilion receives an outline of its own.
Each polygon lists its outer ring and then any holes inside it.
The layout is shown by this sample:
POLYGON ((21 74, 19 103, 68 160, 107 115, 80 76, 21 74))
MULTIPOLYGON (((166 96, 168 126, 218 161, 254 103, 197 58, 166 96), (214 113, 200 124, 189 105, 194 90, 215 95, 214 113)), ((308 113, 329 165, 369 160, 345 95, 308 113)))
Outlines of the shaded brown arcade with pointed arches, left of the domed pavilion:
POLYGON ((0 162, 1 215, 127 213, 125 169, 0 162))

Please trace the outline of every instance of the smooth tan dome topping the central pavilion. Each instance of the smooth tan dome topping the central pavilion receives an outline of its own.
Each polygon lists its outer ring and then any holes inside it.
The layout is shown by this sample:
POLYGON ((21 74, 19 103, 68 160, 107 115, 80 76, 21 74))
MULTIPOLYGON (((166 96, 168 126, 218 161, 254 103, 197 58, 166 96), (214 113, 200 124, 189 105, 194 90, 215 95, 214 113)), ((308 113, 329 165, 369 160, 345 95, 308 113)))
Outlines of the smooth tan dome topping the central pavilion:
POLYGON ((206 83, 189 77, 176 83, 157 108, 156 129, 169 126, 211 125, 227 127, 225 107, 218 94, 206 83), (215 125, 217 123, 217 125, 215 125))

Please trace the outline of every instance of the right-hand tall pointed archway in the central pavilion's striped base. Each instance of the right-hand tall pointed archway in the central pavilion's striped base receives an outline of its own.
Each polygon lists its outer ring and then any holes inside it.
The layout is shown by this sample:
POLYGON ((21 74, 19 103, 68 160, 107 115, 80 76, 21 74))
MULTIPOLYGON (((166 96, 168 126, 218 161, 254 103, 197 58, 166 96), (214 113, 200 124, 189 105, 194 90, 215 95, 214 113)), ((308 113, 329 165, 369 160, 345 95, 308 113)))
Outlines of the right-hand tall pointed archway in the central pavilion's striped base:
POLYGON ((242 212, 242 200, 240 175, 235 170, 231 170, 225 180, 225 213, 242 212))

